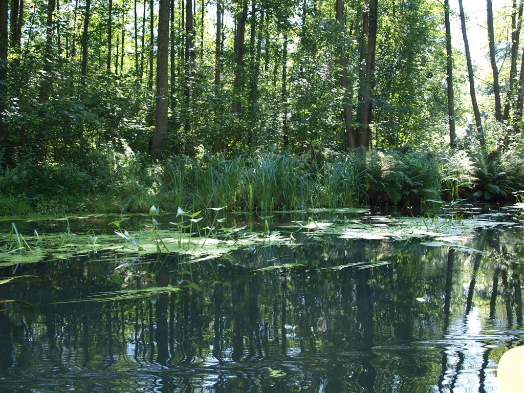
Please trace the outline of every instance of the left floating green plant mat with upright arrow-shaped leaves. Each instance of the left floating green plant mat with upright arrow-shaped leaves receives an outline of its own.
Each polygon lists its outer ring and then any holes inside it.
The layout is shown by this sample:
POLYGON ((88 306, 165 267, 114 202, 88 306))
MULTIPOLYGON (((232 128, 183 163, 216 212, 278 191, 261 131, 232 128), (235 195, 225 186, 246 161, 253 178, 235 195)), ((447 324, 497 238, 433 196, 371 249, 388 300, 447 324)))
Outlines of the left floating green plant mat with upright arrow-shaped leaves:
POLYGON ((128 255, 181 254, 188 263, 221 257, 234 250, 267 244, 294 245, 290 237, 277 232, 270 235, 235 231, 223 238, 196 237, 169 230, 143 230, 94 234, 0 235, 0 268, 44 260, 66 259, 114 251, 128 255))

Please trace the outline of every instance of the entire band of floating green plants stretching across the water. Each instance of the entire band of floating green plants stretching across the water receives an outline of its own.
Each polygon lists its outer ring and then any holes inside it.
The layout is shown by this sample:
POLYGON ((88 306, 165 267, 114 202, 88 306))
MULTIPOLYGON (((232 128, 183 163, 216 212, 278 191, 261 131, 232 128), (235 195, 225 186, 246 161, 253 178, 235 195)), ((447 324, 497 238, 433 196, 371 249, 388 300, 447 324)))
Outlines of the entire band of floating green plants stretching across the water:
MULTIPOLYGON (((464 252, 479 252, 466 245, 474 237, 475 231, 521 224, 518 220, 497 221, 497 217, 496 214, 488 214, 467 219, 421 219, 367 214, 361 219, 331 221, 315 221, 310 217, 307 221, 295 221, 291 225, 279 227, 280 232, 270 232, 269 227, 264 232, 249 232, 245 227, 235 227, 209 233, 199 230, 198 234, 146 226, 143 230, 129 232, 118 227, 118 231, 98 235, 93 231, 88 234, 75 234, 70 231, 38 234, 35 231, 32 236, 22 236, 13 224, 14 231, 0 234, 0 268, 79 255, 95 255, 102 250, 138 256, 179 254, 187 256, 185 263, 196 263, 230 254, 237 249, 269 244, 298 246, 302 242, 297 241, 298 234, 310 235, 315 239, 324 236, 402 242, 421 239, 425 246, 448 246, 464 252)), ((270 270, 271 267, 267 269, 270 270)))

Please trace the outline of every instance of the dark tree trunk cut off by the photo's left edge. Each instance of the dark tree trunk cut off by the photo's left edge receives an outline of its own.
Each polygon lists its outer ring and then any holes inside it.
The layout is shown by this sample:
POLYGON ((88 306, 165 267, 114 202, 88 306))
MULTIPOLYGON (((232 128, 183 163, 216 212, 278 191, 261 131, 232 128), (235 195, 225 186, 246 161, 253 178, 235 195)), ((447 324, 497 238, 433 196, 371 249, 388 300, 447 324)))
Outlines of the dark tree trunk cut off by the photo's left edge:
POLYGON ((0 149, 2 149, 0 151, 4 154, 4 160, 7 160, 10 145, 7 124, 3 115, 7 102, 7 52, 9 47, 7 8, 7 0, 0 0, 0 149))

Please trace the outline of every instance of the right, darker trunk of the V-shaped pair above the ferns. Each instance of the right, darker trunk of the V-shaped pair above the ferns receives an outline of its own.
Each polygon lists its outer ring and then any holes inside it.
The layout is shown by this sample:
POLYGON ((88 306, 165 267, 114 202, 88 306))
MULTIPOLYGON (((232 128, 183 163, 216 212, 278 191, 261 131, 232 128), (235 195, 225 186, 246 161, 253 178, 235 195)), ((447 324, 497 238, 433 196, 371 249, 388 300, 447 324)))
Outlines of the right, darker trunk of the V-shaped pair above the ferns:
POLYGON ((375 74, 375 50, 377 44, 377 0, 369 1, 369 27, 367 38, 367 54, 366 54, 366 77, 364 81, 364 110, 362 114, 362 134, 360 145, 366 149, 369 148, 370 130, 369 125, 372 121, 372 92, 374 85, 375 74))

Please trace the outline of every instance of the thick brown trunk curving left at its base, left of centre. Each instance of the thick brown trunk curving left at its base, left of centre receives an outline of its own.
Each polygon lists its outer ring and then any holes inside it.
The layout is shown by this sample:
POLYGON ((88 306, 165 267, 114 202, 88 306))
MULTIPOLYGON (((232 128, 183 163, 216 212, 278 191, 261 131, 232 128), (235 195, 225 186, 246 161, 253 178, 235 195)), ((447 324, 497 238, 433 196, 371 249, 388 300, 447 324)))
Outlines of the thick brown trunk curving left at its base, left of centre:
POLYGON ((157 94, 155 134, 153 135, 151 155, 159 158, 163 149, 163 141, 167 133, 168 121, 168 52, 169 52, 169 0, 160 0, 158 12, 157 39, 157 94))

